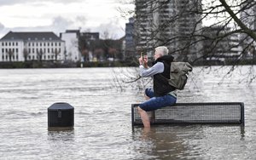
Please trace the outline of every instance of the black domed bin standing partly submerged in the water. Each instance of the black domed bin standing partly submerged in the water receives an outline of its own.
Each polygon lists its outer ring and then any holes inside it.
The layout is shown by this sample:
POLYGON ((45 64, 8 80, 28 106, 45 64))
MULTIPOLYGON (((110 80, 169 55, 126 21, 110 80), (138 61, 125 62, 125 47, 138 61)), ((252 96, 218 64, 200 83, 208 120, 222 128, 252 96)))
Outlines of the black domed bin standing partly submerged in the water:
POLYGON ((55 103, 48 108, 48 130, 72 130, 73 106, 68 103, 55 103))

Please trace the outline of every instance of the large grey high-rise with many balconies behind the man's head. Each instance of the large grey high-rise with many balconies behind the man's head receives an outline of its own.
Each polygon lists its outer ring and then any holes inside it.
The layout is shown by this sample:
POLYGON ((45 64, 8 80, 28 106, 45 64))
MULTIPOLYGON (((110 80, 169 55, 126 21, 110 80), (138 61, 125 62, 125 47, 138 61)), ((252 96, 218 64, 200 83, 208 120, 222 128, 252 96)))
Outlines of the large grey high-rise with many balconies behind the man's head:
POLYGON ((179 59, 198 55, 202 44, 195 43, 201 29, 201 0, 136 0, 137 50, 152 55, 166 45, 179 59))

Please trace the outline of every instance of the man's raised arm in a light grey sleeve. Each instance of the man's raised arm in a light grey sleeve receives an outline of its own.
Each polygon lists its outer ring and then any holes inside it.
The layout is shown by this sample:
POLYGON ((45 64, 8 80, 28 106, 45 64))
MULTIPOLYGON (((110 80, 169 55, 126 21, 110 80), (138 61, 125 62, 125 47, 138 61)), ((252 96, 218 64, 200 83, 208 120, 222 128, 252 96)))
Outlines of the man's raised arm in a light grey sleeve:
POLYGON ((140 76, 141 77, 152 77, 157 73, 163 72, 165 66, 162 62, 157 62, 151 68, 145 68, 143 65, 140 65, 140 76))

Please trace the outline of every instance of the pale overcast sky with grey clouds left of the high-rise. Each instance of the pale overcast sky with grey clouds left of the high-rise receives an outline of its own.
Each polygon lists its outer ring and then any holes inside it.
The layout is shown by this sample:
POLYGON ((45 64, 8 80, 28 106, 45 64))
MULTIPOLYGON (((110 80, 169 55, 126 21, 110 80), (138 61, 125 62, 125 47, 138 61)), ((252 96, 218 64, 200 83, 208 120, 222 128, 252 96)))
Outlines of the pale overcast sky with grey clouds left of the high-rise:
POLYGON ((109 37, 125 36, 128 17, 119 7, 133 9, 120 0, 0 0, 0 38, 9 31, 54 31, 70 29, 108 31, 109 37))

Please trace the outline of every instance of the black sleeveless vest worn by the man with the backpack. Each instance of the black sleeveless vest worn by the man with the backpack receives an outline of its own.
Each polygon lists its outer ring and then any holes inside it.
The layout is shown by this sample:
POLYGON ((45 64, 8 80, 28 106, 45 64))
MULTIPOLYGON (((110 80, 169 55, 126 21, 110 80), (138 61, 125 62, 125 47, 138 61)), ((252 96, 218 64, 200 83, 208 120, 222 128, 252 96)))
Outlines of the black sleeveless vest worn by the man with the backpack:
POLYGON ((175 90, 175 88, 172 87, 166 80, 166 78, 170 79, 170 68, 171 68, 172 61, 173 61, 172 55, 164 55, 159 59, 155 60, 153 63, 155 64, 157 62, 162 62, 165 66, 165 69, 162 73, 158 73, 154 75, 153 89, 154 89, 154 96, 156 97, 163 96, 175 90))

